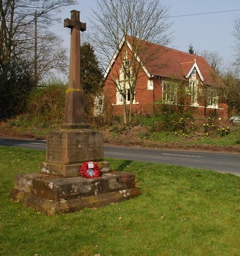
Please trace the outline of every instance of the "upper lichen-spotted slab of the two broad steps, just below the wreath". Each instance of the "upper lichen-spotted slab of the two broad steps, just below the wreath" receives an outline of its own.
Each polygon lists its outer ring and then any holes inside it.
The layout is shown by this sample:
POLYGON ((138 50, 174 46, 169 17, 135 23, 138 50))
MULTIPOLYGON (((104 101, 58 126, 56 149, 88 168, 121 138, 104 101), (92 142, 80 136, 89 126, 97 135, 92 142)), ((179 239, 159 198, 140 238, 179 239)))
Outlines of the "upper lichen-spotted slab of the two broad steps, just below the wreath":
POLYGON ((134 187, 135 175, 126 172, 107 172, 99 178, 22 174, 16 176, 14 186, 17 190, 54 201, 89 197, 134 187))

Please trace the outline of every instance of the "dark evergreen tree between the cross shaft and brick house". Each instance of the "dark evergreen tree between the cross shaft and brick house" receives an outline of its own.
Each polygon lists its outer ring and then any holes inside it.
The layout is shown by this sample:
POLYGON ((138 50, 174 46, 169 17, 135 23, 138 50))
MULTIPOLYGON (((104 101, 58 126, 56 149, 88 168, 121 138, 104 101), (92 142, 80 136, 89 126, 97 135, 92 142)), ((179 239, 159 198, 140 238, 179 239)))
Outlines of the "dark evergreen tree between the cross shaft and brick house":
POLYGON ((81 82, 85 93, 97 93, 103 88, 103 70, 89 43, 81 46, 81 82))

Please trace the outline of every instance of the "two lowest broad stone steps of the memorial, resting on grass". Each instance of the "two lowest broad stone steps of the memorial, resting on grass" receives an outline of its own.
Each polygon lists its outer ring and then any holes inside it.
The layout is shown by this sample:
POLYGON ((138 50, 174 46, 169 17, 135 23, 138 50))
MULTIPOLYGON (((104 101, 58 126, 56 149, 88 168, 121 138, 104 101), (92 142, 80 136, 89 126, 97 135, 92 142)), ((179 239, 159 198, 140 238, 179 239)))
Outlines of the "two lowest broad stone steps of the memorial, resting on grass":
POLYGON ((13 200, 49 215, 118 203, 138 195, 135 175, 127 172, 107 172, 102 177, 90 179, 22 174, 16 176, 10 193, 13 200))

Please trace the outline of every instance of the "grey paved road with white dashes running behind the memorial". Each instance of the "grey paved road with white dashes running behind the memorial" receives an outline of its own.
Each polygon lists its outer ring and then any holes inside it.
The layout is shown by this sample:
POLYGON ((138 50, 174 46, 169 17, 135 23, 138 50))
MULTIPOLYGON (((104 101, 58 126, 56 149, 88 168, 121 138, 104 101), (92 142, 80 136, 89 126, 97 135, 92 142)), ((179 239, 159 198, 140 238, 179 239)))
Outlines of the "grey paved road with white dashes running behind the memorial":
MULTIPOLYGON (((0 138, 0 145, 45 150, 46 141, 0 138)), ((240 154, 104 146, 104 156, 212 169, 240 175, 240 154)))

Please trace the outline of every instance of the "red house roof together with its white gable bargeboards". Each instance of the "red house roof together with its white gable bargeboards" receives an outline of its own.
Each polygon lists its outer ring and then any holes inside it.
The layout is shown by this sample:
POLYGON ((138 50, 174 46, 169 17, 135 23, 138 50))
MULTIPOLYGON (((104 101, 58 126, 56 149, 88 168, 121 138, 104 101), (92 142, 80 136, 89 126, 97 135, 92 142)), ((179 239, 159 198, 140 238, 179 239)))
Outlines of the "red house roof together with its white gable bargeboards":
MULTIPOLYGON (((127 37, 127 46, 133 52, 131 47, 132 37, 127 37)), ((137 39, 138 40, 138 39, 137 39)), ((140 40, 138 40, 140 42, 140 40)), ((206 85, 215 85, 216 81, 219 81, 219 77, 208 64, 205 58, 202 56, 192 55, 190 53, 181 52, 180 50, 172 49, 166 46, 160 46, 158 44, 144 42, 144 47, 148 47, 148 51, 155 53, 154 58, 151 61, 145 61, 145 56, 137 56, 137 61, 139 63, 142 61, 141 65, 148 76, 158 76, 162 78, 174 78, 182 81, 188 81, 193 69, 197 70, 199 77, 202 82, 206 85), (216 76, 218 77, 216 79, 216 76)), ((114 61, 116 60, 119 52, 124 46, 124 37, 119 43, 119 47, 116 50, 113 58, 107 66, 104 78, 109 74, 114 61)))

